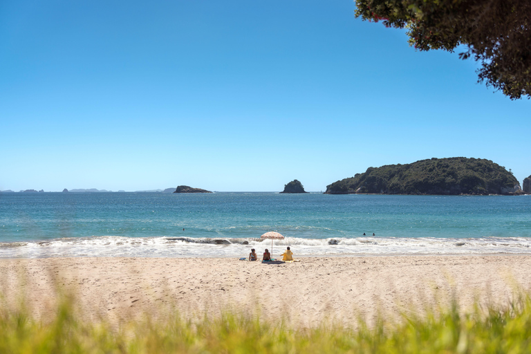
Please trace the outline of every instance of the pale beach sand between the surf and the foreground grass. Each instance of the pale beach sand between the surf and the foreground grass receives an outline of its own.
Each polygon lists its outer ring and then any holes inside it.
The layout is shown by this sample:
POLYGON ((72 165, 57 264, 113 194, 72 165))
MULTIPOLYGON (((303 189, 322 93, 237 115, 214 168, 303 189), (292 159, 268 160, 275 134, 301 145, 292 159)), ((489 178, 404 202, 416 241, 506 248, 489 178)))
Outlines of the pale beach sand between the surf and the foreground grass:
POLYGON ((2 259, 3 306, 21 297, 38 319, 53 317, 57 291, 75 294, 88 321, 113 323, 175 310, 201 319, 227 309, 288 318, 297 326, 324 319, 355 326, 378 311, 507 304, 531 285, 531 256, 401 256, 301 258, 263 264, 236 259, 64 258, 2 259))

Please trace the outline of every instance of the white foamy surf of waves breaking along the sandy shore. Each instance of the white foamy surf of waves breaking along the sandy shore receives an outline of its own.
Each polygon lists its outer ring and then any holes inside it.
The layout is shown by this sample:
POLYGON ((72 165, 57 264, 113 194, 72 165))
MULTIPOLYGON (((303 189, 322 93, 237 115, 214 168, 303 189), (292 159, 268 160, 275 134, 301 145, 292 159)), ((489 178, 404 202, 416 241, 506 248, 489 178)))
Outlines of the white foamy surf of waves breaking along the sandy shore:
MULTIPOLYGON (((274 241, 273 254, 290 246, 297 256, 393 254, 531 254, 531 238, 360 237, 274 241)), ((270 240, 95 236, 0 243, 0 258, 41 257, 246 257, 250 248, 271 250, 270 240)))

